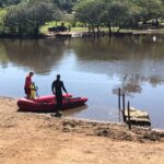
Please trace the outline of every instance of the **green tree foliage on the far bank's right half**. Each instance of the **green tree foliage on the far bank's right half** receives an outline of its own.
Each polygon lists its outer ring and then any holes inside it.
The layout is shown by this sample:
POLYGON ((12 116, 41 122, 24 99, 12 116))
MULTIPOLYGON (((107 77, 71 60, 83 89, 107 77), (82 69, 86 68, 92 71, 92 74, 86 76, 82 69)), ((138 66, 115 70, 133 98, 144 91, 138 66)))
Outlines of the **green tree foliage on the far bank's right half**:
POLYGON ((164 16, 162 0, 81 0, 74 10, 77 20, 92 30, 107 25, 110 32, 110 26, 138 27, 140 21, 164 16))

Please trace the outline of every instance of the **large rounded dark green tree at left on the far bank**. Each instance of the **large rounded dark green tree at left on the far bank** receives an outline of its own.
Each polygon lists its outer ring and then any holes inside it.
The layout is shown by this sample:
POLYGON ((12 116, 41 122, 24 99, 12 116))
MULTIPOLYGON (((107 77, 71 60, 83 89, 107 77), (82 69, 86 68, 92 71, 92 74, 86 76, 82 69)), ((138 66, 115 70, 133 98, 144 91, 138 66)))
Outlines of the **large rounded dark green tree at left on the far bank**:
POLYGON ((52 3, 30 2, 8 8, 5 26, 12 34, 37 36, 42 25, 48 21, 59 20, 59 11, 52 3))

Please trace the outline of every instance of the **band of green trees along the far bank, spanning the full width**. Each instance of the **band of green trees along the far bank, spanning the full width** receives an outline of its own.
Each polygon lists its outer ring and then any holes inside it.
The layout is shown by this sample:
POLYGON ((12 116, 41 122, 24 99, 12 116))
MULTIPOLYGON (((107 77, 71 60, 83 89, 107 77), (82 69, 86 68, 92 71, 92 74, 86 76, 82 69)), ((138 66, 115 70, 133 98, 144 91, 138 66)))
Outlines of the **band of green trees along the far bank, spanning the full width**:
POLYGON ((110 33, 164 17, 164 0, 0 0, 0 32, 16 35, 38 35, 42 25, 67 13, 90 31, 106 26, 110 33))

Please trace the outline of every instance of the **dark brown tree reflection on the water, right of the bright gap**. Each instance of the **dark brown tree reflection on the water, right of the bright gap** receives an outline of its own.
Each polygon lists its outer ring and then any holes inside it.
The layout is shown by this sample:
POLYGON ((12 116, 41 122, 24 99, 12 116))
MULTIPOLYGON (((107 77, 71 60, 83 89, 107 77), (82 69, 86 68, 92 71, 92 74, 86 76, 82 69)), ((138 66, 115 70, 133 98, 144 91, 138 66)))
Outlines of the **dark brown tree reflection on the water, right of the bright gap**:
MULTIPOLYGON (((157 39, 157 38, 156 38, 157 39)), ((160 38, 159 38, 160 39, 160 38)), ((161 38, 163 39, 163 38, 161 38)), ((153 43, 152 36, 106 37, 99 39, 79 39, 75 52, 84 60, 120 60, 162 57, 162 43, 153 43)))

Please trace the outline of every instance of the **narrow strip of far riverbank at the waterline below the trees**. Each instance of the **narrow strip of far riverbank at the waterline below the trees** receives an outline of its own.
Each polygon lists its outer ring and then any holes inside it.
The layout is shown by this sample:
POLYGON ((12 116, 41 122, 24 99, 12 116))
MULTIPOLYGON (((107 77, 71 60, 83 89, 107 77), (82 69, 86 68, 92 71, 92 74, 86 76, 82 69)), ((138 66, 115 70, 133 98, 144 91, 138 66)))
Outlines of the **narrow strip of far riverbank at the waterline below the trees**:
POLYGON ((99 31, 93 33, 87 31, 70 31, 70 32, 59 32, 59 33, 48 33, 44 32, 37 36, 23 36, 14 34, 0 34, 0 38, 47 38, 47 37, 99 37, 99 36, 132 36, 132 35, 150 35, 150 34, 164 34, 163 28, 149 28, 149 30, 121 30, 119 33, 114 32, 109 34, 107 31, 99 31))

